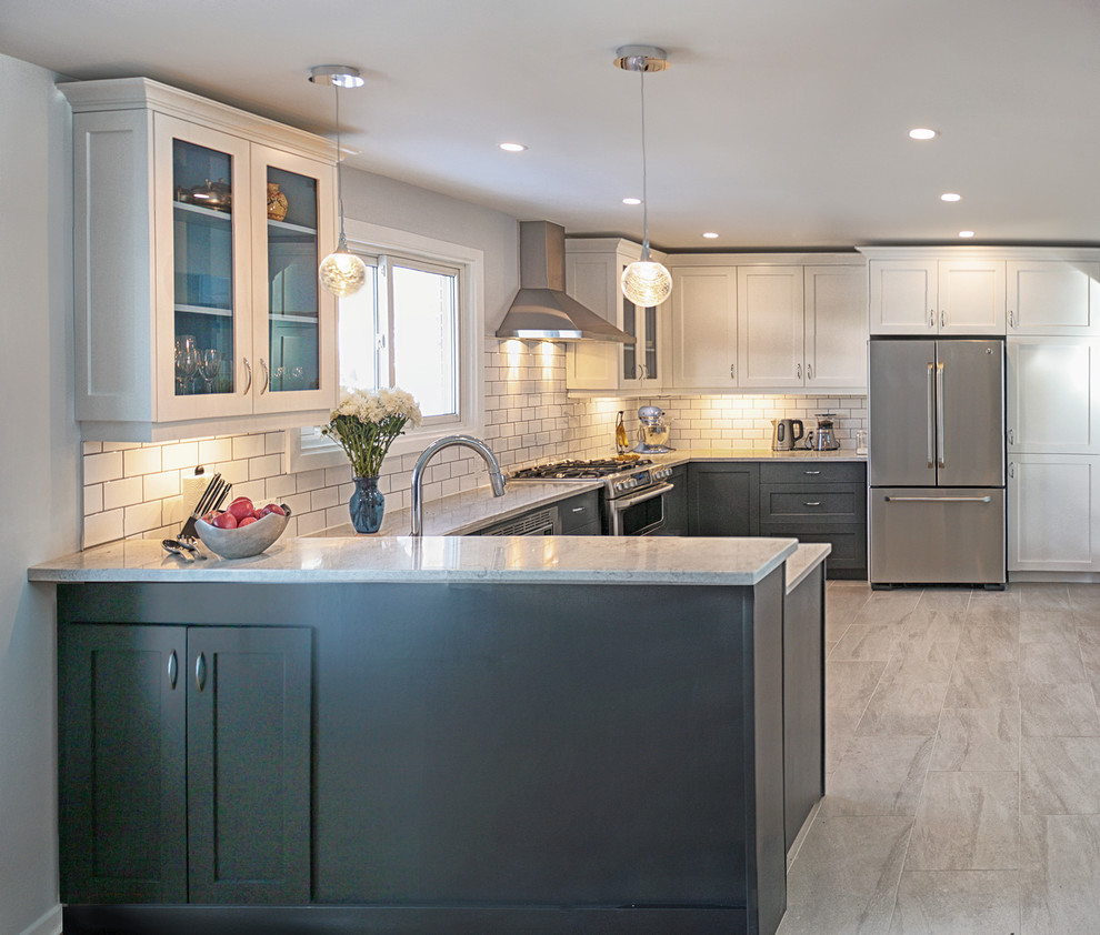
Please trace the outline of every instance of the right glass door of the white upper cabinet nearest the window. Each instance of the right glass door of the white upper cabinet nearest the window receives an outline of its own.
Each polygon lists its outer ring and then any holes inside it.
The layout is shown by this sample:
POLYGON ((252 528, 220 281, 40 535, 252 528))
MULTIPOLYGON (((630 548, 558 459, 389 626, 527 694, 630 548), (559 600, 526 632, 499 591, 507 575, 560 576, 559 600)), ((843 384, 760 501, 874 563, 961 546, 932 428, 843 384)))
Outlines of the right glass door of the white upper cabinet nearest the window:
POLYGON ((334 296, 317 268, 336 247, 332 170, 323 163, 252 147, 252 190, 263 207, 253 228, 252 343, 258 412, 332 403, 336 376, 334 296))

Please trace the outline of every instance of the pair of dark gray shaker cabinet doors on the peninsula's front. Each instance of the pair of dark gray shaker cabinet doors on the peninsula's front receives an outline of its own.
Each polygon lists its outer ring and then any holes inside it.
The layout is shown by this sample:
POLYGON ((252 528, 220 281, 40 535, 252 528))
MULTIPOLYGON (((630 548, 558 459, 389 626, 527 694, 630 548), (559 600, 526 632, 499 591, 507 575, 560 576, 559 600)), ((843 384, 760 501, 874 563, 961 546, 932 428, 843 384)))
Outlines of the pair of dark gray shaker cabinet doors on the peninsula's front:
POLYGON ((311 633, 59 629, 61 899, 310 898, 311 633))

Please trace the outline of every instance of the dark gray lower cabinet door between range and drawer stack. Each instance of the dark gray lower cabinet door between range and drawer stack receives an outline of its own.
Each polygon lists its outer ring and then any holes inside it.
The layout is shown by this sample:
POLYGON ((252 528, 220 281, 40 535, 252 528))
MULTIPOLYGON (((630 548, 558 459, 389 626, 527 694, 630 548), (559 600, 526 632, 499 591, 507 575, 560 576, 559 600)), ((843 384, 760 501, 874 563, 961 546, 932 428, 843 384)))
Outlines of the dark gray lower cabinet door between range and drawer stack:
POLYGON ((760 465, 693 461, 688 465, 688 534, 757 535, 760 465))

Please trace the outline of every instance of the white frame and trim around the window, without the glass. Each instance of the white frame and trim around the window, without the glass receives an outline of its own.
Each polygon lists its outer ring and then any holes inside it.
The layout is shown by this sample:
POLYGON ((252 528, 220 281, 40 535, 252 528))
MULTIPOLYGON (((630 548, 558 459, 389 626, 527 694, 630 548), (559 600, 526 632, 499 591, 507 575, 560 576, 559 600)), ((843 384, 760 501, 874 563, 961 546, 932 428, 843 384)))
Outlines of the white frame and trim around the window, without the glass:
MULTIPOLYGON (((381 224, 370 224, 350 218, 344 222, 344 232, 348 247, 352 252, 379 258, 388 257, 391 262, 419 261, 459 271, 459 312, 456 331, 458 338, 456 359, 458 364, 459 418, 457 420, 446 419, 443 422, 433 419, 429 421, 429 424, 421 425, 419 429, 408 430, 393 442, 388 460, 404 454, 419 453, 444 435, 481 435, 484 431, 484 361, 482 352, 484 340, 484 251, 461 243, 438 240, 381 224)), ((381 263, 379 265, 381 268, 381 263)), ((388 282, 386 289, 389 290, 388 282)), ((389 309, 383 309, 380 315, 387 328, 387 356, 392 353, 389 348, 392 333, 389 315, 389 309)), ((337 346, 337 353, 339 353, 339 346, 337 346)), ((389 372, 388 364, 387 372, 389 372)), ((348 463, 348 456, 343 449, 333 441, 322 438, 303 445, 301 429, 288 429, 286 435, 288 474, 338 468, 348 463)))

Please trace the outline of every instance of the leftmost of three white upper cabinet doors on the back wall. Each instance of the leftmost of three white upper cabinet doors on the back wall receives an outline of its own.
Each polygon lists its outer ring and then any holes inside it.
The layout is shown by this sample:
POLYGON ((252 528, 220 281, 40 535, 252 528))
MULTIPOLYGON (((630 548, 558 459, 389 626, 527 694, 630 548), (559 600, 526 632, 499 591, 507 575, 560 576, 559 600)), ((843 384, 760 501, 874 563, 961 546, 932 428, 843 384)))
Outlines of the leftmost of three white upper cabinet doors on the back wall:
POLYGON ((671 267, 672 386, 738 386, 737 270, 671 267))

